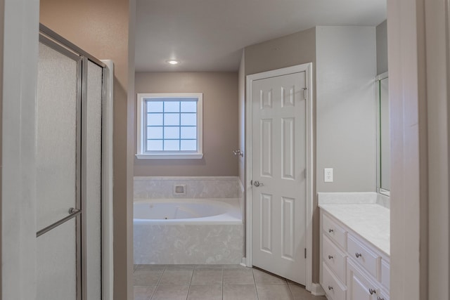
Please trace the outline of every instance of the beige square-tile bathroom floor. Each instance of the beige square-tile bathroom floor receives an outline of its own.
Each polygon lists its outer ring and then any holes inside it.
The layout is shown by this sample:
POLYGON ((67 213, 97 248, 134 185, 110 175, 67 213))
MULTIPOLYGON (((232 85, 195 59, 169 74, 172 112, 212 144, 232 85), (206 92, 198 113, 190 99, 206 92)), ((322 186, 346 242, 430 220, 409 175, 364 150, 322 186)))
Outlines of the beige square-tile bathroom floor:
POLYGON ((326 300, 239 265, 135 265, 134 300, 326 300))

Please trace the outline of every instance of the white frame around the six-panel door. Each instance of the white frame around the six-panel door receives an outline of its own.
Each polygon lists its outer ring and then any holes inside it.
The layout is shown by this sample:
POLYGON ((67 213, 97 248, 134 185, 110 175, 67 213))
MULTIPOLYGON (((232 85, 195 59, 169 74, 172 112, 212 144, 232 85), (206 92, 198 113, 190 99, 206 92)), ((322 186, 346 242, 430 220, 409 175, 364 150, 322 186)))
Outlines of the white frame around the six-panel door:
POLYGON ((303 65, 295 65, 293 67, 284 67, 278 70, 272 70, 257 74, 251 74, 247 76, 246 83, 246 103, 245 103, 245 187, 246 187, 246 238, 245 238, 245 264, 247 266, 252 266, 252 185, 250 181, 252 180, 252 83, 258 79, 264 79, 269 77, 276 77, 286 74, 292 74, 297 72, 306 72, 306 86, 307 86, 307 103, 306 103, 306 154, 307 154, 307 178, 306 178, 306 247, 307 247, 307 277, 306 277, 306 288, 308 291, 311 290, 312 285, 312 212, 313 212, 313 180, 314 180, 314 169, 313 169, 313 151, 312 151, 312 63, 306 63, 303 65))

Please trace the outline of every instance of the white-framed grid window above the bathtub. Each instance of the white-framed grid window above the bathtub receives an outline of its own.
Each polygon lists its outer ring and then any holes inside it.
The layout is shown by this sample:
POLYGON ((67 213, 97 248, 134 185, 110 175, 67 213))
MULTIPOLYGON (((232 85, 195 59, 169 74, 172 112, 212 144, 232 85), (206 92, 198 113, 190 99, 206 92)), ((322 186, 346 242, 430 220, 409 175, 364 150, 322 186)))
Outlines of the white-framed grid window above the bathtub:
POLYGON ((203 93, 139 93, 139 159, 200 159, 203 93))

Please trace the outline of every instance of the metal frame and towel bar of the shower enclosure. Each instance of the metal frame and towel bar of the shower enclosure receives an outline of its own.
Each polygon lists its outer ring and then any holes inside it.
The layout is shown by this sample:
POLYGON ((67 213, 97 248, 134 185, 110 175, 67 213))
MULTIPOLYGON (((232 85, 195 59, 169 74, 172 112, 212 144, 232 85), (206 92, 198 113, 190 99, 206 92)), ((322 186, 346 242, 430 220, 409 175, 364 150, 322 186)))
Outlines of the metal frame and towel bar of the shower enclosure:
MULTIPOLYGON (((51 226, 39 231, 39 235, 56 228, 65 221, 77 218, 77 299, 87 299, 86 289, 86 197, 82 193, 85 181, 87 65, 89 61, 102 68, 102 115, 101 115, 101 298, 113 299, 113 62, 98 60, 75 44, 39 24, 39 42, 77 61, 77 208, 51 226), (83 131, 83 132, 82 132, 83 131), (81 215, 80 217, 78 217, 81 215), (81 248, 79 248, 81 244, 81 248)), ((37 234, 37 236, 39 236, 37 234)))

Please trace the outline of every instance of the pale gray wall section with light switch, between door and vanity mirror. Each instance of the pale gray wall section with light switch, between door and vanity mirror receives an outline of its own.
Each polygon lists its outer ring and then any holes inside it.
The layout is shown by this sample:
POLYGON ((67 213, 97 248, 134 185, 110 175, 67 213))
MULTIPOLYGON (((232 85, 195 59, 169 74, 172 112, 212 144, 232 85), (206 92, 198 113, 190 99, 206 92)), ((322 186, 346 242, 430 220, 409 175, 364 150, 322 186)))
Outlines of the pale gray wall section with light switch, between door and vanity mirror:
POLYGON ((375 191, 375 27, 316 27, 316 60, 317 192, 375 191))

